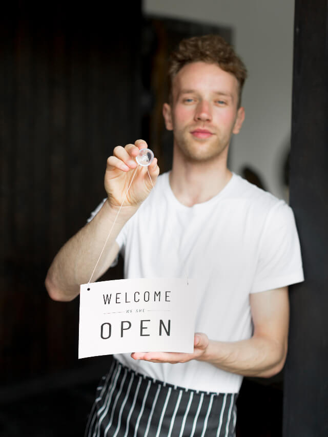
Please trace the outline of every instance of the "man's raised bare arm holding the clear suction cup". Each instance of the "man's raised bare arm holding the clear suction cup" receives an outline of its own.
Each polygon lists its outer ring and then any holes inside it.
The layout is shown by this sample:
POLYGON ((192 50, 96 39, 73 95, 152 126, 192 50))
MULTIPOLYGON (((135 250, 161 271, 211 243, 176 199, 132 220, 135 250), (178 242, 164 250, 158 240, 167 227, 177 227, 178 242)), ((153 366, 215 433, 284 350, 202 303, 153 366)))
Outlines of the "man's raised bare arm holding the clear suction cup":
MULTIPOLYGON (((105 190, 108 198, 93 220, 61 247, 54 258, 45 282, 52 299, 69 301, 78 295, 80 284, 87 283, 91 278, 111 228, 112 231, 92 280, 95 281, 103 275, 112 264, 119 249, 115 241, 117 235, 147 198, 153 186, 147 168, 139 167, 126 196, 137 167, 134 158, 139 149, 145 147, 147 147, 145 141, 137 140, 135 144, 127 144, 125 148, 120 146, 115 148, 113 156, 108 158, 105 173, 105 190)), ((159 174, 156 159, 149 165, 148 170, 155 184, 159 174)))

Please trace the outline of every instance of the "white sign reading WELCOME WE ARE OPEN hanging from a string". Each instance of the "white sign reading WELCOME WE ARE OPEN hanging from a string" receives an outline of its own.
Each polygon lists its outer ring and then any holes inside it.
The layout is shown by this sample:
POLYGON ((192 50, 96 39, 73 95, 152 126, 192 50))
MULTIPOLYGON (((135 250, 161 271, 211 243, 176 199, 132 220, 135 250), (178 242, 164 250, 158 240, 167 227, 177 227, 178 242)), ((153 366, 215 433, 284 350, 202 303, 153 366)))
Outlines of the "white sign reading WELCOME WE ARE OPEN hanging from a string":
POLYGON ((78 358, 126 352, 193 352, 195 283, 121 279, 80 286, 78 358))

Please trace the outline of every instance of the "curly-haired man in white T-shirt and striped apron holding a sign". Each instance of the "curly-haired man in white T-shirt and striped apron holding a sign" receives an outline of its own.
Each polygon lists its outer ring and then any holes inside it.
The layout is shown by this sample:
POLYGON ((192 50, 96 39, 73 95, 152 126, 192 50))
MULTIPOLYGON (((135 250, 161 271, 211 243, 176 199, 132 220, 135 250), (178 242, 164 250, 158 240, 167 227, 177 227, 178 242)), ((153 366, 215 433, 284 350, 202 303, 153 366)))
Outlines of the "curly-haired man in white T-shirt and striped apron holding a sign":
MULTIPOLYGON (((86 435, 232 436, 242 376, 271 377, 286 357, 288 285, 303 280, 293 214, 227 168, 245 67, 207 35, 180 43, 169 74, 172 171, 157 179, 156 159, 149 175, 137 169, 95 277, 121 249, 128 278, 200 279, 194 352, 115 356, 86 435)), ((108 158, 107 200, 49 269, 53 299, 73 299, 88 282, 145 147, 137 140, 108 158)))

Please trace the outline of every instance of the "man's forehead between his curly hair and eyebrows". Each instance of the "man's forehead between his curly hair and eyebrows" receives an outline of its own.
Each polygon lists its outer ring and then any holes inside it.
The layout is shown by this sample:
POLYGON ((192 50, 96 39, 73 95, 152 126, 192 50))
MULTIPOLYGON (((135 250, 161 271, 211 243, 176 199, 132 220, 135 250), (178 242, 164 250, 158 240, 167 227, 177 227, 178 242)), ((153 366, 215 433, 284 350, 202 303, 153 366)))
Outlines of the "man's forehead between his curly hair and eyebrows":
POLYGON ((238 80, 217 64, 195 62, 181 68, 173 79, 173 97, 181 92, 214 92, 238 95, 238 80))

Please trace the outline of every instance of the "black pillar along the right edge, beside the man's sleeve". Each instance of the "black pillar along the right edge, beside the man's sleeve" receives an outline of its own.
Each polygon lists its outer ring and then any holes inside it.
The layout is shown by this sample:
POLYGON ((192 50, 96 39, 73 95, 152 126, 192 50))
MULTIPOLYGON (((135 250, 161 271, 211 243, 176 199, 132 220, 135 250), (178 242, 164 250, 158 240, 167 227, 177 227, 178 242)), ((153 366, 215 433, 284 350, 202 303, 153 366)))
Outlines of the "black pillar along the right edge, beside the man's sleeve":
POLYGON ((328 4, 296 0, 291 206, 305 282, 291 287, 284 437, 328 435, 328 4))

